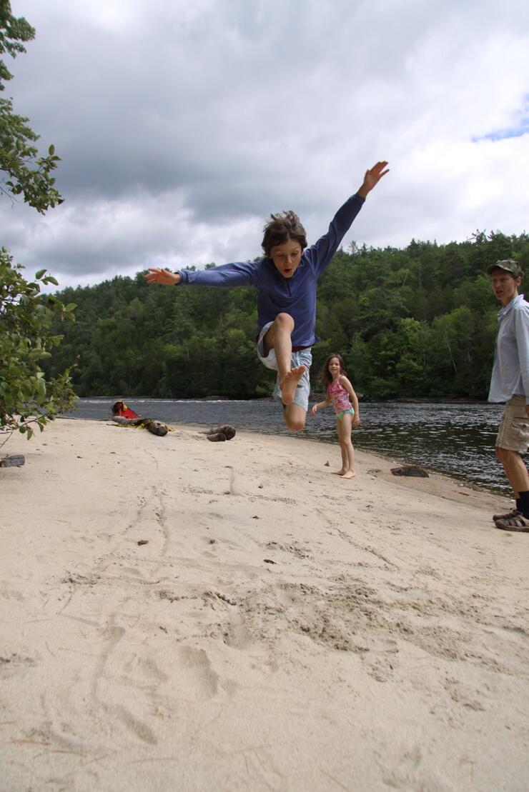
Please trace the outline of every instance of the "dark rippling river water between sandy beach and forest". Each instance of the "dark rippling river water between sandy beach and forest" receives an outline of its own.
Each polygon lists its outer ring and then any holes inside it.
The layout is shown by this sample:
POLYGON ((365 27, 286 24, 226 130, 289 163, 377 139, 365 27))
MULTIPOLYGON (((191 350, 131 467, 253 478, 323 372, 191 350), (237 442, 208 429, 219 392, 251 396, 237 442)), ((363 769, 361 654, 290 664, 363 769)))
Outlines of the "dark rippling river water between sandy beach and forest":
MULTIPOLYGON (((115 398, 82 398, 68 417, 110 417, 115 398)), ((125 398, 129 407, 145 417, 173 425, 212 427, 232 424, 265 434, 288 435, 282 410, 272 399, 210 401, 125 398)), ((503 405, 483 402, 443 404, 416 402, 362 402, 362 424, 353 432, 358 449, 413 463, 462 481, 509 492, 507 479, 494 455, 494 440, 503 405)), ((336 421, 331 408, 309 417, 297 437, 335 444, 339 462, 336 421)), ((331 458, 332 462, 332 458, 331 458)))

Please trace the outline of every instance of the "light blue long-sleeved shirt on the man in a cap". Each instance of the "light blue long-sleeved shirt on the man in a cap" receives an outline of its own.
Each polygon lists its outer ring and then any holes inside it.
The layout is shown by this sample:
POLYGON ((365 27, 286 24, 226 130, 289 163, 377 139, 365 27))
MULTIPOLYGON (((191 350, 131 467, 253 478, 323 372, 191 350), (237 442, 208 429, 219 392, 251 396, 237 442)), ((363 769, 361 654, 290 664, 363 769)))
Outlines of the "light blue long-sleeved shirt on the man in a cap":
POLYGON ((498 312, 489 402, 525 395, 529 404, 529 303, 518 295, 498 312))

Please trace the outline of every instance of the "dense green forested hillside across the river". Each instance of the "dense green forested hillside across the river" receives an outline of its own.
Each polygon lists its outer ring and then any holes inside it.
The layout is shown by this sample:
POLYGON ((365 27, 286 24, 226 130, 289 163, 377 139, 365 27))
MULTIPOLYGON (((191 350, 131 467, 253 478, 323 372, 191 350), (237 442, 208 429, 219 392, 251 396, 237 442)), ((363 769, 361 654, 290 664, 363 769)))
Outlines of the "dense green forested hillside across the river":
MULTIPOLYGON (((529 235, 339 251, 320 280, 312 381, 328 353, 340 352, 370 398, 486 398, 499 306, 485 268, 508 257, 529 270, 529 235)), ((77 321, 48 369, 77 360, 79 396, 271 392, 274 375, 255 356, 252 288, 147 286, 139 273, 59 297, 77 304, 77 321)))

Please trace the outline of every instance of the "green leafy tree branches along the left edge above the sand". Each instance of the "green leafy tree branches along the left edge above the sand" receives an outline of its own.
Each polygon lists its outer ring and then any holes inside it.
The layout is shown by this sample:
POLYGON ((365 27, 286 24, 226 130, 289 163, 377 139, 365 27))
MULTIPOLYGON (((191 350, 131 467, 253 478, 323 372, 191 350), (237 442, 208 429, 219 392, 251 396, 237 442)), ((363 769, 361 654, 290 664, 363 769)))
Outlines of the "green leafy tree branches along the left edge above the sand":
MULTIPOLYGON (((24 43, 33 35, 25 19, 13 17, 10 3, 0 0, 0 54, 14 57, 24 52, 24 43)), ((11 76, 0 59, 1 91, 11 76)), ((13 201, 22 196, 26 204, 44 212, 62 200, 51 176, 59 158, 53 147, 48 156, 38 156, 38 135, 26 122, 13 113, 10 99, 0 97, 0 194, 13 201)), ((21 270, 6 248, 0 248, 0 429, 18 429, 29 438, 32 425, 42 430, 75 402, 69 369, 47 379, 41 367, 62 338, 58 327, 73 319, 75 305, 65 306, 56 296, 41 293, 42 285, 57 285, 44 269, 33 281, 25 280, 21 270)))

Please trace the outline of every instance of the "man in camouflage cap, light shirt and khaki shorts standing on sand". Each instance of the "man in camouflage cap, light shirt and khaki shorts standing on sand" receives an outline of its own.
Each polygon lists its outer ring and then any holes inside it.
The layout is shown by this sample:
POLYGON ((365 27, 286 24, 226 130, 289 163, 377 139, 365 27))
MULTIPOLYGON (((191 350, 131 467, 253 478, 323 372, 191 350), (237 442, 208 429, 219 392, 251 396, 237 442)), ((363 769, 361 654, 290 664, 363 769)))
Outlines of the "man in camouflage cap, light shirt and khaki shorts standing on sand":
POLYGON ((529 447, 529 303, 518 294, 523 272, 505 259, 487 268, 496 299, 498 334, 489 402, 507 402, 496 437, 496 456, 504 466, 516 509, 494 515, 496 528, 529 533, 529 473, 520 454, 529 447))

